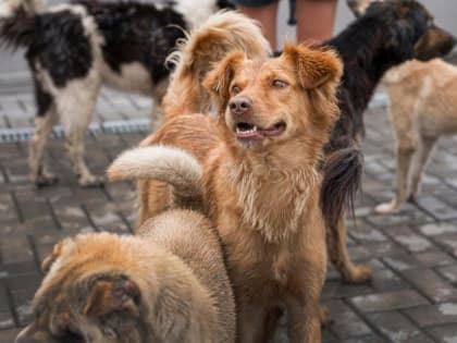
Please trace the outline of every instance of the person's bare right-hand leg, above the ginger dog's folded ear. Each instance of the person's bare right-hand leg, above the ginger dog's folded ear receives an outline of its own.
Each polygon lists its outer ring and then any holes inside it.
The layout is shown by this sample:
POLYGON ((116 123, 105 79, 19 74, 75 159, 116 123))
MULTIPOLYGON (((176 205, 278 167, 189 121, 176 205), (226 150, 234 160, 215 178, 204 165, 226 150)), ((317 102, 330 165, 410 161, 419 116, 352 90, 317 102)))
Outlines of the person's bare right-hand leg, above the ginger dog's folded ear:
POLYGON ((336 0, 297 0, 297 40, 320 44, 333 35, 336 0))

